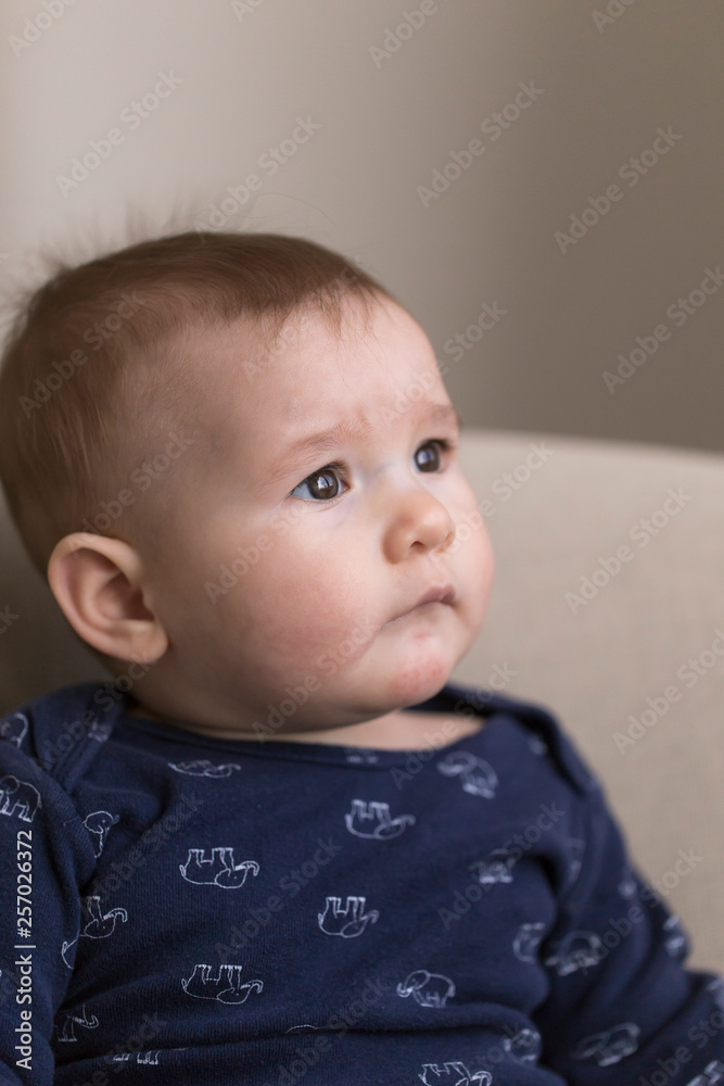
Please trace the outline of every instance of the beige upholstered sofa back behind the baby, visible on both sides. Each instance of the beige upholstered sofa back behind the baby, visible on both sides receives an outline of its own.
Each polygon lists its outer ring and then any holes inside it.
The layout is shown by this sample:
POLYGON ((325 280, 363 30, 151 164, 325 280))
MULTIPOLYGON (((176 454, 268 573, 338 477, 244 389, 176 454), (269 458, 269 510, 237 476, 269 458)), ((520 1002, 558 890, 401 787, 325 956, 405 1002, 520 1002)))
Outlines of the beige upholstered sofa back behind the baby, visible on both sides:
MULTIPOLYGON (((724 457, 480 431, 462 457, 497 571, 454 678, 554 710, 689 931, 690 963, 724 972, 724 457)), ((0 712, 107 678, 7 515, 0 542, 0 712)))

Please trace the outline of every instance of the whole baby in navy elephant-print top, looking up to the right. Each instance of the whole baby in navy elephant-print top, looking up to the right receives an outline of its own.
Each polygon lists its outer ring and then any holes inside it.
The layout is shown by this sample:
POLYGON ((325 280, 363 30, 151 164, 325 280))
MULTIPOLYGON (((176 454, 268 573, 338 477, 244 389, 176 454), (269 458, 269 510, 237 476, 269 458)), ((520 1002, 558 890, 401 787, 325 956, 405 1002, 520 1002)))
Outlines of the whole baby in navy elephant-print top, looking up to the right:
POLYGON ((0 476, 116 679, 0 723, 3 1083, 724 1083, 722 982, 571 742, 449 683, 493 576, 458 430, 308 241, 144 242, 26 306, 0 476))

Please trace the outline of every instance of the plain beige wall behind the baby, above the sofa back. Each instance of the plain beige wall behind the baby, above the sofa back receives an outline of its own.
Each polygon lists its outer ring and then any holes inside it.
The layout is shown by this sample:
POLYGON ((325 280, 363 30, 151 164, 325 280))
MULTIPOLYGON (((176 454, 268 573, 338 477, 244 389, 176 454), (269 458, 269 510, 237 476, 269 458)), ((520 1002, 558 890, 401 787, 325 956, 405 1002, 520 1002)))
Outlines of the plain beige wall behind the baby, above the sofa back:
POLYGON ((466 422, 724 449, 724 289, 676 303, 724 260, 721 3, 65 2, 0 14, 3 285, 33 275, 39 243, 91 255, 124 242, 131 212, 158 232, 226 198, 216 224, 307 235, 382 278, 466 422), (134 113, 160 73, 168 97, 134 113), (107 157, 59 182, 91 140, 107 157), (469 167, 421 192, 471 140, 469 167), (279 144, 294 153, 272 175, 279 144), (647 151, 646 173, 624 165, 647 151), (250 175, 258 191, 230 197, 250 175), (585 235, 559 244, 586 207, 585 235), (611 392, 602 375, 636 337, 656 353, 611 392))

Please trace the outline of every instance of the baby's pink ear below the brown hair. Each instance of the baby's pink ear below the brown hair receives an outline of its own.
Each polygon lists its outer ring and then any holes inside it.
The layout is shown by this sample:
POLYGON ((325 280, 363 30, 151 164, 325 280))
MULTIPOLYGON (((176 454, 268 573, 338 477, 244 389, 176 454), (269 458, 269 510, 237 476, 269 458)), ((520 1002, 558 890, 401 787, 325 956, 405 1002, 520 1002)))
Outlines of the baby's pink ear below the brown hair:
POLYGON ((78 636, 100 653, 153 664, 166 652, 168 636, 149 607, 147 570, 129 543, 65 535, 48 560, 48 581, 78 636))

